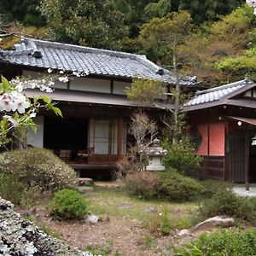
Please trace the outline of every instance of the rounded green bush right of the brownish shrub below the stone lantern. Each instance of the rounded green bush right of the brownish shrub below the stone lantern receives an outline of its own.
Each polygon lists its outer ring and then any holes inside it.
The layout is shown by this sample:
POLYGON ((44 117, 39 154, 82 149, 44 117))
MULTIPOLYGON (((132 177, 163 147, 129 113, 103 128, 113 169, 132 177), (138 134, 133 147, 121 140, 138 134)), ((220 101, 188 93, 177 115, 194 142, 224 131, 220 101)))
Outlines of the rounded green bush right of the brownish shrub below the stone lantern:
POLYGON ((186 177, 172 168, 159 173, 156 189, 159 197, 168 201, 192 199, 204 191, 195 178, 186 177))

